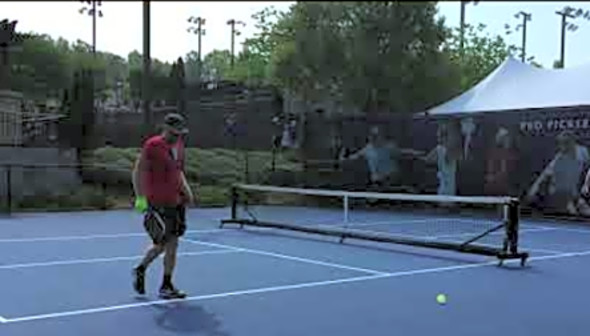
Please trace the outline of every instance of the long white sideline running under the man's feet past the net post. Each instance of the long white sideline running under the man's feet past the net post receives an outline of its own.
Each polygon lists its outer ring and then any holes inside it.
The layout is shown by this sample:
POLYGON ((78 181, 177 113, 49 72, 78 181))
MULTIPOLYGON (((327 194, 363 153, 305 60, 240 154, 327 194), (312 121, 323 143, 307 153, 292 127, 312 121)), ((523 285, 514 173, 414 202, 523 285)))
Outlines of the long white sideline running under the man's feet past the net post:
MULTIPOLYGON (((529 260, 542 261, 542 260, 571 258, 571 257, 587 256, 587 255, 590 255, 590 251, 564 253, 564 254, 555 255, 555 256, 533 257, 533 258, 529 258, 529 260)), ((518 260, 505 261, 505 263, 516 263, 516 262, 519 262, 519 261, 518 260)), ((325 287, 325 286, 343 284, 343 283, 363 282, 363 281, 385 279, 385 278, 400 278, 400 277, 404 277, 404 276, 413 276, 413 275, 419 275, 419 274, 442 273, 442 272, 464 270, 464 269, 471 269, 471 268, 482 268, 482 267, 487 267, 487 266, 493 266, 493 265, 496 265, 497 263, 498 263, 497 261, 493 261, 493 262, 483 262, 483 263, 476 263, 476 264, 456 265, 456 266, 447 266, 447 267, 424 268, 424 269, 417 269, 417 270, 410 270, 410 271, 400 271, 400 272, 393 272, 393 273, 366 275, 366 276, 343 278, 343 279, 336 279, 336 280, 304 282, 304 283, 294 284, 294 285, 263 287, 263 288, 235 291, 235 292, 190 296, 185 299, 177 299, 177 300, 154 300, 154 301, 148 301, 148 302, 131 303, 131 304, 117 305, 117 306, 106 306, 106 307, 97 307, 97 308, 90 308, 90 309, 65 311, 65 312, 59 312, 59 313, 30 315, 30 316, 4 319, 4 323, 27 322, 27 321, 52 319, 52 318, 59 318, 59 317, 66 317, 66 316, 79 316, 79 315, 87 315, 87 314, 94 314, 94 313, 104 313, 104 312, 112 312, 112 311, 119 311, 119 310, 139 308, 139 307, 166 305, 169 303, 184 302, 184 301, 203 301, 203 300, 220 299, 220 298, 226 298, 226 297, 244 296, 244 295, 252 295, 252 294, 263 294, 263 293, 271 293, 271 292, 281 292, 281 291, 296 290, 296 289, 303 289, 303 288, 317 288, 317 287, 325 287)))

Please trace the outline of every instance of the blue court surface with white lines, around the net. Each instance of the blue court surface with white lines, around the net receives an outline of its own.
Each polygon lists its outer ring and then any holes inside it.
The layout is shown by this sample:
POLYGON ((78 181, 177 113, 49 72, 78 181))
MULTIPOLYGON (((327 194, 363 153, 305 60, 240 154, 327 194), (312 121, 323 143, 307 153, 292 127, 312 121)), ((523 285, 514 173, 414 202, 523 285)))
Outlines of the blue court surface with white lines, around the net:
MULTIPOLYGON (((0 335, 587 336, 590 331, 590 228, 580 224, 523 219, 521 247, 531 257, 521 268, 519 261, 498 267, 494 258, 450 251, 341 244, 333 237, 283 230, 220 229, 219 220, 228 216, 228 209, 190 210, 175 275, 189 294, 182 301, 158 299, 161 259, 149 270, 148 295, 132 291, 131 269, 149 243, 137 213, 0 219, 0 335), (439 293, 447 295, 445 305, 436 302, 439 293)), ((421 223, 392 220, 401 228, 421 223)), ((380 230, 387 224, 362 225, 380 230)))

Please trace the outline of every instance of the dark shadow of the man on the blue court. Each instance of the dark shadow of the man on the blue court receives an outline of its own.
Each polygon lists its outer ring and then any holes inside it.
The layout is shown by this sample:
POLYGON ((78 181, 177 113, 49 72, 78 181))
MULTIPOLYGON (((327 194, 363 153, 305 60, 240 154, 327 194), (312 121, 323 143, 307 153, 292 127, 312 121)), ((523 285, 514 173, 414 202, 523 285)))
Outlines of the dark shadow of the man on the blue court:
POLYGON ((221 330, 221 322, 215 314, 190 302, 174 302, 151 306, 156 312, 158 327, 174 333, 207 336, 229 336, 221 330))

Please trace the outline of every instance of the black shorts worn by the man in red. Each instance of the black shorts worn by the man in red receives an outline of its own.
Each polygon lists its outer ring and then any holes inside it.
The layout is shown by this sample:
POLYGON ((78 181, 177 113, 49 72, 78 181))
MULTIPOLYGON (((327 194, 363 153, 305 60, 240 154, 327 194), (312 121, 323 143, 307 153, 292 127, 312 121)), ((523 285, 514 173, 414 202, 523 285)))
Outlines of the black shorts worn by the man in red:
POLYGON ((171 237, 181 237, 186 230, 186 209, 184 205, 176 207, 148 207, 143 226, 154 244, 164 244, 171 237))

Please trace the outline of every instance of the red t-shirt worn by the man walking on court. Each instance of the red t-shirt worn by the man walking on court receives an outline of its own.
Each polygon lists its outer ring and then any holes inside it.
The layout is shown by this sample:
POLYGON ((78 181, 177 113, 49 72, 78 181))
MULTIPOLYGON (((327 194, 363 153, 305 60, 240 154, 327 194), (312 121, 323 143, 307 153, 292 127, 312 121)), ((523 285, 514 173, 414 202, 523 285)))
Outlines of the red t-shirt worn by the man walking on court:
POLYGON ((142 187, 148 202, 153 205, 176 206, 182 203, 184 144, 174 144, 156 135, 143 145, 144 172, 142 187))

